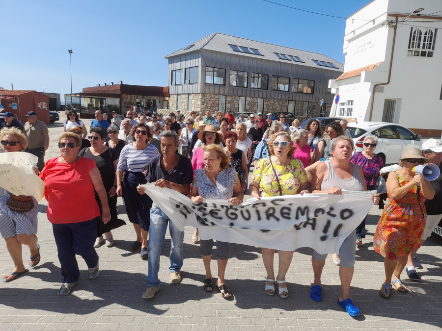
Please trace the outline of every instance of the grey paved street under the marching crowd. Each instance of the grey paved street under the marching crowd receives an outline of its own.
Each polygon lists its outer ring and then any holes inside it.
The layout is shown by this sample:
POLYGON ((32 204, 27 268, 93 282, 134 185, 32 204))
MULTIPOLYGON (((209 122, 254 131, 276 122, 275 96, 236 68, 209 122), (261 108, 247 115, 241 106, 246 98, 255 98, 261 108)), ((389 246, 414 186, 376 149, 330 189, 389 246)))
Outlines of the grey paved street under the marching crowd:
MULTIPOLYGON (((90 123, 90 121, 85 121, 90 123)), ((57 155, 56 137, 63 131, 59 123, 50 126, 51 148, 48 157, 57 155)), ((72 206, 81 208, 82 206, 72 206)), ((122 201, 121 218, 127 221, 122 201)), ((429 238, 418 257, 424 269, 422 281, 408 280, 408 294, 393 291, 385 300, 378 294, 384 279, 383 259, 371 244, 381 211, 372 208, 367 222, 368 235, 356 252, 355 275, 351 293, 362 310, 361 316, 350 317, 337 305, 339 295, 338 267, 327 258, 323 274, 323 301, 310 300, 308 293, 313 278, 310 249, 299 249, 287 274, 290 297, 280 299, 264 293, 265 269, 260 250, 234 245, 234 258, 226 271, 226 283, 234 294, 224 300, 219 292, 202 289, 204 266, 199 246, 194 245, 192 229, 186 229, 184 243, 184 279, 170 284, 168 252, 170 237, 161 256, 161 290, 151 300, 143 300, 146 287, 147 261, 129 251, 134 231, 128 224, 113 231, 115 246, 100 247, 100 274, 87 280, 86 265, 79 258, 80 281, 67 297, 58 297, 61 284, 51 225, 46 215, 46 202, 39 206, 40 264, 17 280, 0 285, 0 330, 441 330, 442 327, 442 240, 429 238), (152 326, 155 324, 155 326, 152 326)), ((69 212, 69 211, 67 211, 69 212)), ((128 222, 129 223, 129 222, 128 222)), ((24 249, 23 258, 28 260, 24 249)), ((215 260, 213 266, 215 266, 215 260)), ((276 262, 277 263, 277 262, 276 262)), ((276 264, 277 265, 277 264, 276 264)), ((11 259, 4 241, 0 241, 0 274, 11 269, 11 259)), ((31 268, 29 268, 31 269, 31 268)), ((216 277, 215 269, 212 268, 216 277)))

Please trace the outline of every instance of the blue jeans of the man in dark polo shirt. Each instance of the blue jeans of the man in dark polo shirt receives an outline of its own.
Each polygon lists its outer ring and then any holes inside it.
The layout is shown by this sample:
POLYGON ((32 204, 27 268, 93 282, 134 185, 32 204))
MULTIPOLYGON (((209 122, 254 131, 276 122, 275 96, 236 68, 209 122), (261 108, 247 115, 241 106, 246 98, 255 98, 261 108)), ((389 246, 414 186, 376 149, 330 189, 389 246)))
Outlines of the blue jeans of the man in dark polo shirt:
POLYGON ((184 231, 175 227, 173 222, 156 204, 150 209, 149 244, 147 245, 148 266, 147 286, 160 287, 158 272, 160 270, 160 255, 166 236, 167 223, 172 238, 170 248, 170 272, 178 272, 183 266, 183 240, 184 231))

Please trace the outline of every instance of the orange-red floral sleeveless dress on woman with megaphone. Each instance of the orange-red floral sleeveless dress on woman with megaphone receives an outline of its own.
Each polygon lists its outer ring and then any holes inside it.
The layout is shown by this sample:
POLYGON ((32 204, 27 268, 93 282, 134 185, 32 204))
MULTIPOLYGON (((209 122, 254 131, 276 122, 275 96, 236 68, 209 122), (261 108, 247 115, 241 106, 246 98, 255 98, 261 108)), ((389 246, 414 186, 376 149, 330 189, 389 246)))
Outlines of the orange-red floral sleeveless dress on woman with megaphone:
MULTIPOLYGON (((396 175, 400 186, 408 183, 397 172, 396 175)), ((425 228, 427 212, 424 196, 419 194, 419 205, 416 193, 417 186, 413 186, 397 200, 388 194, 388 203, 373 236, 375 251, 388 259, 407 256, 421 245, 420 236, 425 228)))

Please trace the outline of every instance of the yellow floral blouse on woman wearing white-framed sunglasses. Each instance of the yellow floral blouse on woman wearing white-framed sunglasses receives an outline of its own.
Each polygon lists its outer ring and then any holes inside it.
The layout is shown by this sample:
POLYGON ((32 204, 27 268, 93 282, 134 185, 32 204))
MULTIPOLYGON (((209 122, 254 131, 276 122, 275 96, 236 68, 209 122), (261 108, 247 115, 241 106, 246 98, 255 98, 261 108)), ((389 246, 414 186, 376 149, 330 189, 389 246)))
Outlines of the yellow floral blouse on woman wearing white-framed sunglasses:
MULTIPOLYGON (((289 165, 279 166, 273 162, 276 176, 281 185, 282 195, 297 194, 300 184, 307 182, 307 174, 300 160, 292 158, 289 165)), ((259 183, 261 197, 274 197, 279 194, 278 181, 270 163, 270 156, 258 160, 253 170, 252 181, 259 183)))

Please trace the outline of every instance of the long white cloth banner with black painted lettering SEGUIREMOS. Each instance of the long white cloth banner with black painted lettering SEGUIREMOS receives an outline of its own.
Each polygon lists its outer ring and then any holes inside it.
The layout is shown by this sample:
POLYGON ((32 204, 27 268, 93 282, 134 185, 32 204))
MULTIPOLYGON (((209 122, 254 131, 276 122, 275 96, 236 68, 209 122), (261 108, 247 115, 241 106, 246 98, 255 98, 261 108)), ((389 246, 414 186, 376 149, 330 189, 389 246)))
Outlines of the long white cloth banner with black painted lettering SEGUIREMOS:
POLYGON ((194 204, 169 188, 141 185, 146 194, 181 230, 198 228, 203 240, 294 251, 311 247, 319 254, 339 252, 345 238, 373 206, 374 191, 342 195, 305 194, 249 199, 237 207, 227 200, 194 204))

